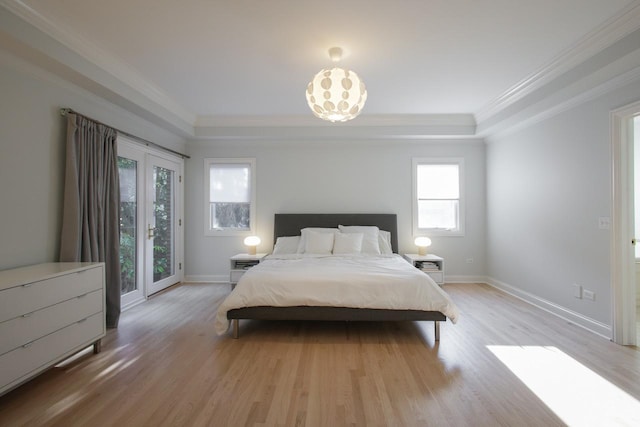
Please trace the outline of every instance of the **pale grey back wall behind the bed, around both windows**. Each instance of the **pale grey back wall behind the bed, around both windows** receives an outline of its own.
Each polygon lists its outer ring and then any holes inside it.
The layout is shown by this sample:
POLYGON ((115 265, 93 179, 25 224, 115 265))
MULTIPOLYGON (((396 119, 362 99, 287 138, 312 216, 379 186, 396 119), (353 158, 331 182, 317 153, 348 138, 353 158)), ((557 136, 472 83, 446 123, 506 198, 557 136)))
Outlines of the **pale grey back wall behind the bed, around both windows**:
MULTIPOLYGON (((485 275, 485 148, 482 141, 229 141, 189 143, 186 162, 187 280, 228 280, 228 258, 246 252, 241 237, 204 236, 204 158, 255 157, 257 226, 273 247, 275 213, 396 213, 400 252, 415 252, 411 226, 412 157, 465 159, 465 237, 434 237, 448 278, 485 275), (473 258, 467 264, 466 258, 473 258)), ((478 279, 480 277, 480 279, 478 279)))

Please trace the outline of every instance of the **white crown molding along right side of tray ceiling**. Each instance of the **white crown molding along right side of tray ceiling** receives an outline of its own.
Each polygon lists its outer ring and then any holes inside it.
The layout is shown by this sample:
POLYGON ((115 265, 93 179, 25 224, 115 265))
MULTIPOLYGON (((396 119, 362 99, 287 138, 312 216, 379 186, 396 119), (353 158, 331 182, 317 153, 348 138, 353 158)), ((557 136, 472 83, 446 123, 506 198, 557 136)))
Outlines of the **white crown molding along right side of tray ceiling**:
POLYGON ((486 121, 638 28, 640 28, 640 1, 636 0, 620 13, 587 33, 538 71, 521 80, 478 110, 475 113, 476 121, 478 123, 486 121))

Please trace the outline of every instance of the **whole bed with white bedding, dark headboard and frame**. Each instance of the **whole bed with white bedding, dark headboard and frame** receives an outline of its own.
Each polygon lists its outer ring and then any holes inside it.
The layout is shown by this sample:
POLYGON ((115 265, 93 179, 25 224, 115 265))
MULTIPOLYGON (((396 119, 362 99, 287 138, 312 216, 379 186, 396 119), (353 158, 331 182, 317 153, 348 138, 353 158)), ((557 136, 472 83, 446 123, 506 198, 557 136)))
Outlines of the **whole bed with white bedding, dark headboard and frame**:
MULTIPOLYGON (((348 232, 349 229, 352 229, 353 232, 355 230, 353 234, 362 234, 359 233, 360 229, 368 230, 377 227, 378 230, 386 232, 384 237, 388 248, 381 250, 385 253, 371 256, 361 254, 318 255, 315 253, 277 254, 278 251, 274 251, 274 254, 268 256, 266 260, 248 270, 220 305, 216 314, 216 332, 218 334, 225 333, 231 323, 233 337, 238 338, 238 321, 240 319, 427 320, 434 322, 435 339, 439 340, 440 322, 446 321, 447 318, 455 322, 458 316, 457 308, 448 295, 429 276, 415 269, 397 254, 398 238, 395 214, 276 214, 274 217, 274 242, 279 242, 278 238, 280 237, 286 239, 301 234, 302 239, 305 238, 305 235, 315 239, 319 236, 314 233, 315 230, 309 232, 309 228, 336 229, 339 226, 343 227, 342 231, 348 232), (301 230, 305 230, 305 232, 301 233, 301 230), (369 280, 367 284, 360 284, 359 276, 354 278, 356 273, 353 269, 358 268, 367 272, 368 278, 363 277, 363 279, 369 280), (306 271, 306 276, 301 276, 301 271, 306 271), (315 273, 309 274, 312 271, 315 273), (340 279, 337 276, 340 276, 340 279), (412 284, 405 285, 408 282, 391 284, 395 280, 405 280, 401 276, 410 278, 412 284), (267 283, 269 284, 267 285, 267 283), (270 293, 263 294, 263 290, 267 288, 268 292, 273 291, 275 296, 270 293), (363 294, 365 288, 366 292, 372 291, 375 295, 363 294), (404 291, 400 292, 405 288, 409 291, 406 296, 401 295, 404 291), (316 296, 318 290, 321 290, 323 294, 316 296), (381 292, 390 293, 387 296, 381 292), (310 295, 311 293, 313 296, 310 295), (338 294, 339 298, 336 297, 338 294), (358 300, 362 295, 364 296, 361 299, 367 300, 366 302, 358 300), (381 298, 381 295, 385 296, 381 298), (281 297, 286 299, 282 301, 279 299, 281 297), (427 299, 431 299, 431 301, 426 301, 427 299)), ((380 234, 383 235, 383 232, 380 234)), ((353 237, 357 236, 351 236, 349 239, 353 237)), ((335 249, 337 249, 337 237, 335 239, 335 249)), ((312 243, 311 240, 313 239, 307 237, 307 245, 312 243)), ((304 240, 302 242, 304 244, 304 240)), ((366 246, 368 243, 363 242, 362 244, 366 246)), ((382 241, 380 245, 383 246, 382 241)), ((364 250, 364 246, 362 250, 364 250)))

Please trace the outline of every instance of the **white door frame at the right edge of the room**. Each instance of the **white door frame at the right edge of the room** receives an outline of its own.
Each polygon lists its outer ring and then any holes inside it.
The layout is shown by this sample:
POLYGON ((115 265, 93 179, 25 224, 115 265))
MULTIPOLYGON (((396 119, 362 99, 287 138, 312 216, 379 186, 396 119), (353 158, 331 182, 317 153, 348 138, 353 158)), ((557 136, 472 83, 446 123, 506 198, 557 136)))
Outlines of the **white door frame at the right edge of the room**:
POLYGON ((612 339, 621 345, 636 344, 633 118, 639 113, 640 101, 610 114, 612 339))

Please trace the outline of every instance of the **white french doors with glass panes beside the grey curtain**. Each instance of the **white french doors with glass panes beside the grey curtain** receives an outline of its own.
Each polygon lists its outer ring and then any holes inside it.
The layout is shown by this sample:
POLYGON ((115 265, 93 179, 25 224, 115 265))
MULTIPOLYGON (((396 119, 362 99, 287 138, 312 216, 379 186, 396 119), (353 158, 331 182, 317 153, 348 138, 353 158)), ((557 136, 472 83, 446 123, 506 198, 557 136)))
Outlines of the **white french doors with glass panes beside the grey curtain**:
POLYGON ((182 280, 182 159, 118 137, 123 309, 182 280))

